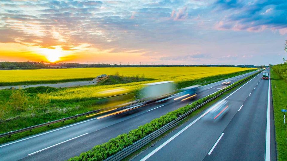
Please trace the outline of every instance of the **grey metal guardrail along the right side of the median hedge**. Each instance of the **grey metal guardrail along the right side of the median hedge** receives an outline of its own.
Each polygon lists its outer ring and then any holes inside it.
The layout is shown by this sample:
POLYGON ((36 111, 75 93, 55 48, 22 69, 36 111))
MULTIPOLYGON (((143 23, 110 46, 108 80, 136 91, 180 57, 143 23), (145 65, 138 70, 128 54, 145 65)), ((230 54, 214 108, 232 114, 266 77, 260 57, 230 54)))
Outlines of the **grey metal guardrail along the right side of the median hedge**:
MULTIPOLYGON (((256 72, 255 74, 253 74, 251 77, 253 77, 254 75, 257 75, 259 72, 256 72)), ((246 81, 247 79, 251 78, 248 77, 246 79, 244 79, 244 81, 246 81)), ((111 157, 107 158, 105 161, 114 161, 114 160, 123 160, 125 157, 129 156, 130 154, 132 154, 133 152, 137 151, 138 149, 142 148, 144 145, 148 144, 149 142, 151 142, 152 140, 154 140, 155 138, 157 138, 158 136, 160 136, 161 134, 165 133, 166 131, 172 129, 174 126, 176 126, 181 120, 183 120, 185 117, 187 117, 191 112, 195 111, 196 109, 204 106, 206 103, 216 99, 217 97, 219 97, 220 95, 222 95, 223 93, 225 93, 226 91, 229 91, 230 89, 233 89, 234 87, 238 86, 239 84, 243 83, 244 81, 236 84, 235 86, 219 93, 218 95, 214 96, 213 98, 210 98, 209 100, 206 100, 204 103, 196 106, 195 108, 193 108, 192 110, 190 110, 189 112, 179 116, 178 118, 176 118, 175 120, 171 121, 170 123, 164 125, 163 127, 161 127, 160 129, 152 132, 151 134, 147 135, 146 137, 142 138, 141 140, 136 141, 135 143, 133 143, 132 145, 129 145, 128 147, 124 148, 123 150, 117 152, 116 154, 112 155, 111 157)))

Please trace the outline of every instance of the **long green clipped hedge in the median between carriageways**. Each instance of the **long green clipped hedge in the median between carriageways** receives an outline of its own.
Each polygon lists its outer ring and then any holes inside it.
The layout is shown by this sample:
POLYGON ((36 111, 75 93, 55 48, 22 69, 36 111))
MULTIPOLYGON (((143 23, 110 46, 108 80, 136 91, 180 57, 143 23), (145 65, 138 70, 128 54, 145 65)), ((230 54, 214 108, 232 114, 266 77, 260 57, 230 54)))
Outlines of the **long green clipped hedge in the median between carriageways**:
MULTIPOLYGON (((258 74, 257 72, 256 74, 258 74)), ((254 74, 254 75, 256 75, 254 74)), ((150 123, 146 123, 145 125, 139 126, 138 129, 134 129, 129 131, 127 134, 120 134, 116 138, 110 139, 107 143, 103 143, 100 145, 94 146, 91 150, 87 152, 83 152, 80 154, 80 156, 70 158, 70 161, 77 161, 77 160, 105 160, 108 157, 116 154, 117 152, 123 150, 123 148, 126 148, 129 145, 132 145, 136 141, 144 138, 146 135, 160 129, 162 126, 166 125, 167 123, 170 123, 171 121, 178 118, 180 115, 183 115, 187 113, 188 111, 192 110, 196 106, 204 103, 205 101, 215 97, 216 95, 219 95, 220 93, 232 88, 233 86, 236 86, 239 83, 242 83, 243 81, 246 81, 247 79, 253 77, 254 75, 251 75, 245 79, 242 79, 240 81, 237 81, 236 83, 233 83, 232 85, 212 94, 208 95, 202 99, 199 99, 195 102, 193 102, 191 105, 187 105, 185 107, 181 107, 175 111, 169 112, 159 118, 156 118, 152 120, 150 123)))

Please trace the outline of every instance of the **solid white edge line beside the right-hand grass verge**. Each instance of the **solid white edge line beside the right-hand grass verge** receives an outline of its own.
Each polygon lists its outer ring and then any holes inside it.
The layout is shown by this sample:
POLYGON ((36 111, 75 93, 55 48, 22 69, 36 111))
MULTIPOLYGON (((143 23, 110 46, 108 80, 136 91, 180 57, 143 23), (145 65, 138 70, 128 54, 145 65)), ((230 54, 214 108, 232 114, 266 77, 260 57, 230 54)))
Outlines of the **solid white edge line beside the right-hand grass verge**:
POLYGON ((268 100, 267 100, 267 120, 266 120, 266 143, 265 143, 265 161, 271 160, 270 157, 270 75, 268 78, 268 100))

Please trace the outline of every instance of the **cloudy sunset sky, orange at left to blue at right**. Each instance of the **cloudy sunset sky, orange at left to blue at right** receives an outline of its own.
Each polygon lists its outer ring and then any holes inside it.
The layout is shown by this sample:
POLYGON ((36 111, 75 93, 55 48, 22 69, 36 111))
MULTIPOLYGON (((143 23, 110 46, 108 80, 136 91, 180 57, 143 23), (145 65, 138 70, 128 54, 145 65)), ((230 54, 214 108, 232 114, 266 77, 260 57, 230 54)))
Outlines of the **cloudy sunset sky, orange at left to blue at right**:
POLYGON ((286 0, 1 0, 0 61, 268 65, 286 0))

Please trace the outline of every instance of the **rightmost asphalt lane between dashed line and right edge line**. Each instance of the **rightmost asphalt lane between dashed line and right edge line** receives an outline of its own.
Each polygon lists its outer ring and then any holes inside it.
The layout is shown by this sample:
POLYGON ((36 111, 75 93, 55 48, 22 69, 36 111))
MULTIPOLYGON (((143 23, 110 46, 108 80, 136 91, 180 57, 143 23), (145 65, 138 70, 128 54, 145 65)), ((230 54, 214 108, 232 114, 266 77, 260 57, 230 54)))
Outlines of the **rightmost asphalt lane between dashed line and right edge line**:
POLYGON ((265 160, 268 81, 252 91, 223 131, 225 136, 204 160, 265 160))

